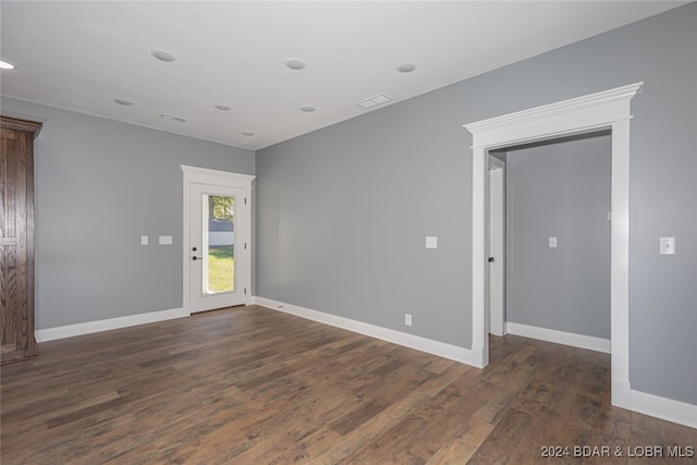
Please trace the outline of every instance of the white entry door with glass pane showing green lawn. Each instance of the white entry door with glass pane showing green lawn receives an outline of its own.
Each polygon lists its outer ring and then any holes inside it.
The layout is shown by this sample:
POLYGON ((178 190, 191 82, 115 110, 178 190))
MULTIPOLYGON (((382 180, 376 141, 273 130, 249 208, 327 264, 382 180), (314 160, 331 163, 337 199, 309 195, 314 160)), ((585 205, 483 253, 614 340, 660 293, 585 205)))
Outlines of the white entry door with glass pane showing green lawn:
POLYGON ((250 293, 249 188, 228 182, 188 182, 185 188, 185 308, 245 305, 250 293))

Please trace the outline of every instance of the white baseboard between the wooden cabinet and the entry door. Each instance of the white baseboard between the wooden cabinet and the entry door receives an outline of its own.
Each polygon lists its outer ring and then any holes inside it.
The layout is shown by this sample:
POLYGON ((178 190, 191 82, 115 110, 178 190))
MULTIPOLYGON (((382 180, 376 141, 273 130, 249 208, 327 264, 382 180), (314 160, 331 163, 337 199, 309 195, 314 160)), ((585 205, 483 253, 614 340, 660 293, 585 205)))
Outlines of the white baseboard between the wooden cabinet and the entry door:
POLYGON ((183 308, 171 310, 150 311, 147 314, 129 315, 126 317, 109 318, 106 320, 87 321, 84 323, 68 325, 57 328, 36 330, 36 342, 53 341, 56 339, 72 338, 74 335, 90 334, 93 332, 108 331, 110 329, 127 328, 136 325, 151 323, 156 321, 171 320, 186 316, 183 308))

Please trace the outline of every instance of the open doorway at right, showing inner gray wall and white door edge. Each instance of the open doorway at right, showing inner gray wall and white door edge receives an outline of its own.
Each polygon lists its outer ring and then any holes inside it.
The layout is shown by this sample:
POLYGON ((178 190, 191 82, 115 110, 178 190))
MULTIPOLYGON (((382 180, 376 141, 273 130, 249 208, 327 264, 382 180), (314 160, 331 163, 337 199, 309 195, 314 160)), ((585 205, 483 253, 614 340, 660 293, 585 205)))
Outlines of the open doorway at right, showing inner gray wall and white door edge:
POLYGON ((490 334, 610 352, 610 154, 609 131, 489 151, 490 334))

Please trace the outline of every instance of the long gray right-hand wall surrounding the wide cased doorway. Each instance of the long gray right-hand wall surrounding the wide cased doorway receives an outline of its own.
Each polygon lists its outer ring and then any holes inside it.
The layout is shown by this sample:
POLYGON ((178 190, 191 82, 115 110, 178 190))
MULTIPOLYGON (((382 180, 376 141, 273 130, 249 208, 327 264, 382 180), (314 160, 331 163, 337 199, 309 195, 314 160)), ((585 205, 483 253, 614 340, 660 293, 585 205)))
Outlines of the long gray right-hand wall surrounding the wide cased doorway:
POLYGON ((462 125, 644 81, 632 105, 631 382, 697 404, 695 24, 690 3, 258 151, 257 295, 469 347, 462 125), (439 249, 424 249, 427 234, 439 249), (676 256, 658 255, 661 235, 677 237, 676 256))

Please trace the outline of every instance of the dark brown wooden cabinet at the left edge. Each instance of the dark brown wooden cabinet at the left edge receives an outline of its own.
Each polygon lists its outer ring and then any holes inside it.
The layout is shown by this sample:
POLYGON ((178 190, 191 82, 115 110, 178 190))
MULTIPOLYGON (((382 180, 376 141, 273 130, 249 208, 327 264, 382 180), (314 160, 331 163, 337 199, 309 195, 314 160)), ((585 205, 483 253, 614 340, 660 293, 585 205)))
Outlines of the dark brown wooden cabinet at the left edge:
POLYGON ((34 138, 41 123, 0 117, 1 363, 36 355, 34 138))

